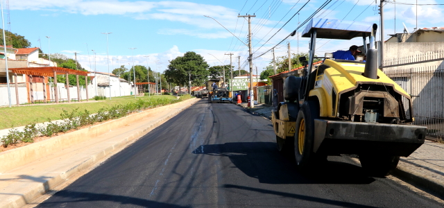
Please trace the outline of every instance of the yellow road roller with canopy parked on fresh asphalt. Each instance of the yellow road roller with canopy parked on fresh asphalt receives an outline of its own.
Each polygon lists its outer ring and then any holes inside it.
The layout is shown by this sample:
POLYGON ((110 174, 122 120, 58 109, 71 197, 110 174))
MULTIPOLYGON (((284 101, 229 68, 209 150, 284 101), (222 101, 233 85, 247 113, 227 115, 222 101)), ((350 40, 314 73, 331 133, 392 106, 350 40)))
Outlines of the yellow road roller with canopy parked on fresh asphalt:
POLYGON ((328 155, 351 154, 368 175, 384 177, 424 144, 427 128, 411 124, 411 97, 378 69, 376 32, 376 24, 314 18, 302 33, 310 38, 309 58, 300 58, 300 77, 285 78, 285 102, 272 112, 278 150, 295 157, 301 170, 328 155), (364 41, 365 61, 326 53, 313 65, 317 38, 355 37, 364 41))

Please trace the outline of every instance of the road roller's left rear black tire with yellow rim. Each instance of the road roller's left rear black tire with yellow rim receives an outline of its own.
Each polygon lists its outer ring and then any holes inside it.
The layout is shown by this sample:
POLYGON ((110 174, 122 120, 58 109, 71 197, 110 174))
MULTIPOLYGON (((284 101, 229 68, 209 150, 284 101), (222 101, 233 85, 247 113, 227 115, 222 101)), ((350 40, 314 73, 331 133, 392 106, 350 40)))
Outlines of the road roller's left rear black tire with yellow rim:
POLYGON ((313 153, 314 119, 319 117, 319 107, 316 101, 306 101, 300 107, 296 119, 294 134, 294 155, 296 165, 302 171, 313 165, 316 155, 313 153))

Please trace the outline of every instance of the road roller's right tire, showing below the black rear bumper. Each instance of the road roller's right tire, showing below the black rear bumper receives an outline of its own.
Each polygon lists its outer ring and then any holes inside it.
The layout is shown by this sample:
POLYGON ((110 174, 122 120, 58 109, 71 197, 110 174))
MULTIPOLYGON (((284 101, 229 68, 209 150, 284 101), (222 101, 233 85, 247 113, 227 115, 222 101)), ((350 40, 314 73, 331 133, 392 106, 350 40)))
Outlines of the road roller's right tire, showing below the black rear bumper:
POLYGON ((400 157, 391 155, 359 155, 359 161, 368 176, 385 177, 390 175, 391 171, 398 166, 400 157))

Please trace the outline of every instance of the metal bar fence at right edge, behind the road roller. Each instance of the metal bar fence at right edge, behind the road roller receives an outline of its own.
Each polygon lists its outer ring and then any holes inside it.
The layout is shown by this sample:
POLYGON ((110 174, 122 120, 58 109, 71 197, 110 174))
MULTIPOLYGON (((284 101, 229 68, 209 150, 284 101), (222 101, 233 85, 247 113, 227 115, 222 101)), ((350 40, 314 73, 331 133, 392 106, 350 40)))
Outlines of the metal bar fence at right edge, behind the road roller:
MULTIPOLYGON (((386 75, 398 83, 412 98, 415 125, 427 126, 427 135, 444 137, 444 68, 416 67, 388 70, 386 75)), ((407 98, 404 108, 409 112, 407 98)), ((410 114, 407 115, 410 117, 410 114)))

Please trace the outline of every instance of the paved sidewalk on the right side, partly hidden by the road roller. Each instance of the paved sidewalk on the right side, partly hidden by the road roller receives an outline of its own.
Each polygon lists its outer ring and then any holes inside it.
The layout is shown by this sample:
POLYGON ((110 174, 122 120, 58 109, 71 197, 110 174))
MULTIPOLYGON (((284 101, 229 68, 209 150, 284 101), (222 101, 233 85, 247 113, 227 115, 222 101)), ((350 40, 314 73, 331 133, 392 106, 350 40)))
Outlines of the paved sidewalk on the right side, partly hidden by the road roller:
MULTIPOLYGON (((273 107, 265 104, 247 108, 248 103, 241 103, 246 110, 271 119, 273 107)), ((401 157, 393 176, 417 187, 433 191, 440 198, 444 198, 444 144, 425 140, 409 157, 401 157)))

